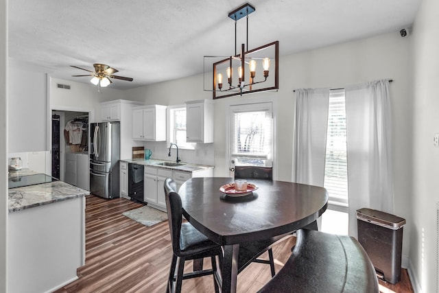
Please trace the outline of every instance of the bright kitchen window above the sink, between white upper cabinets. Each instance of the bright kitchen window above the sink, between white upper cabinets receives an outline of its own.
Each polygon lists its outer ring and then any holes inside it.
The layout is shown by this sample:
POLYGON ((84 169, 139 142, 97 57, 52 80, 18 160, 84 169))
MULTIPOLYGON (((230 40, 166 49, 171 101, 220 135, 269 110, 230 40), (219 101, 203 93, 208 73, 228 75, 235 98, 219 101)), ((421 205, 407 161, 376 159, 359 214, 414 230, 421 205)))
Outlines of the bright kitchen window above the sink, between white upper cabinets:
POLYGON ((195 143, 186 142, 186 106, 168 107, 168 125, 168 143, 176 143, 181 149, 195 149, 195 143))

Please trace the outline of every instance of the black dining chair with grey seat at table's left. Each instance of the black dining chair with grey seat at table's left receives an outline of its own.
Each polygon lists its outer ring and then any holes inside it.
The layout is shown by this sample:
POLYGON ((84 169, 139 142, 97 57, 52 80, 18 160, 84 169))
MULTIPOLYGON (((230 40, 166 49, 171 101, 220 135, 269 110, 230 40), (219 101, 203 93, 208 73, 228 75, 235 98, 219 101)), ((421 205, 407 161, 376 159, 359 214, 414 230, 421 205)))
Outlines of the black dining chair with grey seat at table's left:
POLYGON ((195 277, 213 274, 215 292, 219 292, 221 284, 219 270, 217 270, 216 257, 222 259, 222 248, 215 244, 188 222, 182 222, 182 203, 180 195, 176 191, 176 183, 171 178, 165 180, 165 198, 169 222, 169 233, 174 255, 172 256, 171 268, 166 292, 181 292, 182 281, 195 277), (185 261, 211 257, 212 268, 183 273, 185 261))

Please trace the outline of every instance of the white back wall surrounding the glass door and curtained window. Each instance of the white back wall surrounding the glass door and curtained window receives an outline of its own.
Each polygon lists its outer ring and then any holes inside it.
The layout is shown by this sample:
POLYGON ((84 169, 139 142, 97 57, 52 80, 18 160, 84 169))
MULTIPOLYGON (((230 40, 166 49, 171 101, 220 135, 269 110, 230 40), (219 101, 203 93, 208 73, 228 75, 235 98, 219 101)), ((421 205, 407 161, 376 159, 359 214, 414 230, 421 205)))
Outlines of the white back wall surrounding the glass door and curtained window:
MULTIPOLYGON (((401 38, 399 32, 384 34, 350 43, 333 45, 290 56, 279 62, 279 91, 242 97, 215 99, 215 176, 228 176, 226 160, 226 110, 230 103, 251 102, 266 98, 276 104, 276 155, 274 167, 277 180, 291 180, 292 175, 292 110, 294 89, 340 88, 381 78, 394 80, 390 85, 394 159, 394 213, 411 222, 411 119, 410 67, 411 37, 401 38)), ((282 46, 282 44, 280 44, 282 46)), ((143 86, 126 91, 126 98, 147 104, 182 104, 194 99, 211 99, 204 92, 202 75, 143 86)), ((439 132, 439 130, 438 130, 439 132)), ((146 147, 146 145, 145 145, 146 147)), ((407 264, 410 224, 404 227, 403 264, 407 264)))

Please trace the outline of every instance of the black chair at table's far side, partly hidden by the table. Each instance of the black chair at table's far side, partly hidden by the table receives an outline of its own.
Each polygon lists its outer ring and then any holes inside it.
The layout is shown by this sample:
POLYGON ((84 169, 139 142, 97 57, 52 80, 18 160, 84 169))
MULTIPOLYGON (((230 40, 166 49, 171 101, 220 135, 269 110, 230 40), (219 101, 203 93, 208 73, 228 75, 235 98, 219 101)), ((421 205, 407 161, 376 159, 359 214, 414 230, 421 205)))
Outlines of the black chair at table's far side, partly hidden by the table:
MULTIPOLYGON (((261 167, 261 166, 235 166, 235 178, 243 178, 243 179, 264 179, 264 180, 273 180, 273 171, 272 167, 261 167)), ((272 277, 276 272, 274 271, 274 257, 273 250, 270 247, 264 247, 264 242, 258 242, 256 244, 248 244, 244 245, 240 248, 240 250, 246 251, 243 252, 244 255, 254 254, 254 257, 251 257, 251 262, 256 263, 266 263, 270 265, 270 270, 272 273, 272 277), (268 251, 268 260, 259 259, 258 257, 268 251)), ((242 254, 240 252, 240 254, 242 254)), ((241 255, 240 255, 241 257, 241 255)), ((247 264, 248 264, 247 263, 247 264)), ((245 268, 246 266, 241 266, 241 268, 245 268)))

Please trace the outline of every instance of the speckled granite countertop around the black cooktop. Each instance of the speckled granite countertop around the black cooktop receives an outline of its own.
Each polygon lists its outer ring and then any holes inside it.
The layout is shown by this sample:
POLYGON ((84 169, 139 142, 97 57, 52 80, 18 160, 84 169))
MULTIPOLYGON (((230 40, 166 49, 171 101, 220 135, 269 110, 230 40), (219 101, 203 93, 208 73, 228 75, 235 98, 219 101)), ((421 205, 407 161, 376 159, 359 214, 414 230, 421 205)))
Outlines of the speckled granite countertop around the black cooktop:
MULTIPOLYGON (((14 171, 8 174, 9 178, 37 174, 29 169, 14 171)), ((90 191, 80 189, 62 181, 53 181, 24 187, 8 189, 9 212, 21 211, 44 204, 51 204, 71 198, 88 196, 90 191)))

